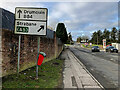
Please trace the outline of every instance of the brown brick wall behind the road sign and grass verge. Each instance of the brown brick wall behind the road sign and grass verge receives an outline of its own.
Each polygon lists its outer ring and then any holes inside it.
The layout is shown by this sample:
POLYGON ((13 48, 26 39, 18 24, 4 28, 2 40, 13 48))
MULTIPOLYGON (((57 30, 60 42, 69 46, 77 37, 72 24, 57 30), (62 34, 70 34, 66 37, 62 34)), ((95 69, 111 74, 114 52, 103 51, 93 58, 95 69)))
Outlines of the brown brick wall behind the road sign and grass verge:
MULTIPOLYGON (((21 35, 20 71, 36 65, 37 37, 21 35)), ((13 31, 2 30, 2 76, 17 72, 18 35, 13 31)), ((43 63, 56 58, 62 51, 63 44, 56 38, 40 37, 40 51, 46 53, 43 63)))

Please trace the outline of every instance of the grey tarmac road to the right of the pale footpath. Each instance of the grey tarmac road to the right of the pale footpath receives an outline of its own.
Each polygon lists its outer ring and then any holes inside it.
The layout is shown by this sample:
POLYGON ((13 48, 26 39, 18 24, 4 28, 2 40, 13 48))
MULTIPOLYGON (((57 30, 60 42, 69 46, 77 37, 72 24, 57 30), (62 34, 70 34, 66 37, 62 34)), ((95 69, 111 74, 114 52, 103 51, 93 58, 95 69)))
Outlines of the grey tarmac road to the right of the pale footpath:
POLYGON ((91 52, 76 46, 69 49, 105 88, 118 87, 118 53, 91 52))

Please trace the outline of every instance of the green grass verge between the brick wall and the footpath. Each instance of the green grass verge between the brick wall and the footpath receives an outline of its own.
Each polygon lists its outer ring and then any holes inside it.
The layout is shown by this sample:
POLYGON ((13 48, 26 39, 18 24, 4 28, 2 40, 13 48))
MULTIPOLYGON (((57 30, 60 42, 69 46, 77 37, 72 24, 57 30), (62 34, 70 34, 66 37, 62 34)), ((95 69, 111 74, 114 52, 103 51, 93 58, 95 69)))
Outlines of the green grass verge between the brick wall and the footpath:
POLYGON ((2 78, 2 88, 57 88, 62 86, 64 60, 54 59, 39 66, 36 79, 36 66, 19 74, 2 78))

